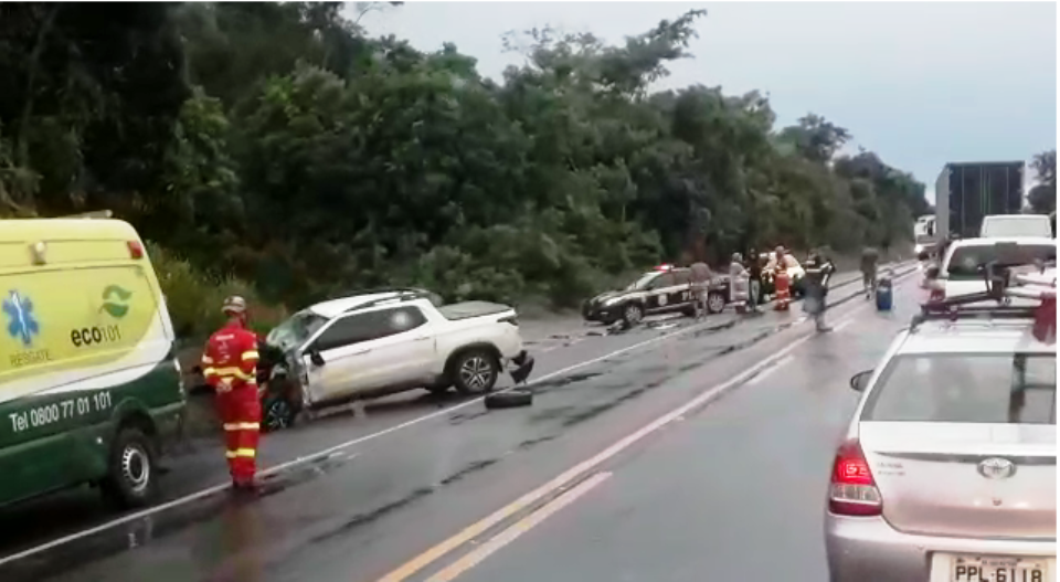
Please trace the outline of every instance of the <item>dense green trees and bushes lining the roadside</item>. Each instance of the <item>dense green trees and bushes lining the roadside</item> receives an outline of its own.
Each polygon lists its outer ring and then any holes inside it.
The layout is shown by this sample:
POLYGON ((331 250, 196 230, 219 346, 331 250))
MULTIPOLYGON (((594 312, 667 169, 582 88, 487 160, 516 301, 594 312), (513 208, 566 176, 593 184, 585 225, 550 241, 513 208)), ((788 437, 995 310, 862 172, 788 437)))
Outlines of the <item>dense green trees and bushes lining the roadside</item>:
POLYGON ((234 276, 287 305, 413 283, 569 305, 660 260, 894 244, 928 211, 824 117, 653 92, 703 12, 616 46, 515 35, 524 64, 487 80, 340 8, 0 4, 0 215, 110 209, 197 272, 171 295, 234 276))

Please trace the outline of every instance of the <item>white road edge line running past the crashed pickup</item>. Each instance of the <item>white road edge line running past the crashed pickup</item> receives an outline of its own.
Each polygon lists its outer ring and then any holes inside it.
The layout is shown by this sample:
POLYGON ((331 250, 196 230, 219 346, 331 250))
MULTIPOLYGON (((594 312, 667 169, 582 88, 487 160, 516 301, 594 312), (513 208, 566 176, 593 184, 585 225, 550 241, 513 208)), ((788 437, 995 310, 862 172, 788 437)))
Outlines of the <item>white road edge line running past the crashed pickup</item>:
MULTIPOLYGON (((710 321, 703 321, 703 322, 701 322, 701 324, 693 324, 693 325, 688 326, 688 327, 686 327, 686 328, 681 328, 681 329, 679 329, 679 330, 677 330, 677 331, 672 331, 672 332, 669 332, 669 334, 664 334, 664 335, 661 335, 661 336, 656 336, 656 337, 654 337, 654 338, 644 340, 644 341, 642 341, 642 342, 634 343, 633 346, 627 346, 627 347, 625 347, 625 348, 622 348, 622 349, 612 351, 612 352, 606 353, 606 355, 604 355, 604 356, 600 356, 600 357, 597 357, 597 358, 593 358, 593 359, 585 360, 585 361, 582 361, 582 362, 579 362, 579 363, 575 363, 575 364, 572 364, 572 366, 568 366, 566 368, 563 368, 563 369, 561 369, 561 370, 556 370, 556 371, 551 372, 551 373, 547 373, 547 374, 544 374, 544 375, 542 375, 542 377, 540 377, 540 378, 534 379, 532 382, 529 382, 529 383, 532 385, 532 384, 538 384, 538 383, 540 383, 540 382, 544 382, 544 381, 547 381, 547 380, 549 380, 549 379, 551 379, 551 378, 555 378, 555 377, 558 377, 558 375, 565 374, 565 373, 571 372, 571 371, 573 371, 573 370, 577 370, 579 368, 584 368, 584 367, 586 367, 586 366, 591 366, 591 364, 593 364, 593 363, 601 362, 601 361, 604 361, 604 360, 614 358, 615 356, 621 356, 621 355, 623 355, 623 353, 627 353, 627 352, 629 352, 629 351, 637 350, 637 349, 644 348, 644 347, 646 347, 646 346, 650 346, 650 345, 653 345, 653 343, 658 343, 658 342, 664 341, 664 340, 666 340, 666 339, 669 339, 669 338, 672 338, 672 337, 676 337, 676 336, 680 336, 680 335, 687 334, 687 332, 689 332, 689 331, 697 330, 697 329, 699 329, 699 328, 708 325, 709 322, 710 322, 710 321)), ((809 337, 812 337, 812 336, 807 336, 806 338, 803 338, 802 340, 798 340, 798 341, 799 341, 799 342, 805 341, 806 339, 809 339, 809 337)), ((772 361, 772 360, 768 360, 768 361, 772 361)), ((756 369, 756 368, 755 368, 755 369, 756 369)), ((513 388, 517 388, 517 387, 506 388, 506 389, 504 389, 504 390, 498 390, 497 392, 506 392, 506 391, 508 391, 508 390, 512 390, 513 388)), ((357 445, 359 445, 359 444, 361 444, 361 443, 365 443, 365 442, 368 442, 368 441, 372 441, 372 440, 379 438, 379 437, 381 437, 381 436, 385 436, 385 435, 388 435, 388 434, 391 434, 391 433, 401 431, 401 430, 403 430, 403 428, 407 428, 407 427, 410 427, 410 426, 414 426, 414 425, 416 425, 416 424, 420 424, 420 423, 423 423, 423 422, 426 422, 426 421, 430 421, 430 420, 433 420, 433 419, 437 419, 437 417, 439 417, 439 416, 444 416, 444 415, 446 415, 446 414, 449 414, 451 412, 460 410, 460 409, 466 408, 466 406, 470 406, 471 404, 475 404, 475 403, 477 403, 477 402, 481 402, 481 400, 483 400, 483 396, 479 396, 479 398, 476 398, 476 399, 473 399, 473 400, 468 400, 468 401, 462 402, 462 403, 459 403, 459 404, 454 404, 453 406, 449 406, 449 408, 447 408, 447 409, 442 409, 442 410, 439 410, 439 411, 432 412, 432 413, 430 413, 430 414, 424 414, 423 416, 417 416, 417 417, 415 417, 415 419, 413 419, 413 420, 411 420, 411 421, 406 421, 406 422, 403 422, 403 423, 401 423, 401 424, 396 424, 396 425, 391 426, 391 427, 389 427, 389 428, 383 428, 382 431, 379 431, 379 432, 375 432, 375 433, 367 434, 367 435, 364 435, 364 436, 360 436, 360 437, 358 437, 358 438, 353 438, 353 440, 347 441, 347 442, 344 442, 344 443, 339 443, 339 444, 337 444, 337 445, 335 445, 335 446, 325 448, 325 449, 319 451, 319 452, 317 452, 317 453, 311 453, 311 454, 309 454, 309 455, 304 455, 304 456, 296 457, 296 458, 294 458, 294 459, 292 459, 292 461, 288 461, 288 462, 286 462, 286 463, 280 463, 279 465, 276 465, 276 466, 273 466, 273 467, 269 467, 269 468, 267 468, 267 469, 265 469, 265 470, 259 472, 259 474, 263 475, 263 476, 272 475, 272 474, 278 473, 278 472, 280 472, 280 470, 284 470, 284 469, 286 469, 286 468, 289 468, 289 467, 293 467, 293 466, 296 466, 296 465, 300 465, 300 464, 303 464, 303 463, 307 463, 307 462, 314 461, 314 459, 319 458, 319 457, 321 457, 321 456, 328 456, 328 455, 330 455, 331 453, 335 453, 335 452, 337 452, 337 451, 341 451, 341 449, 343 449, 343 448, 349 448, 349 447, 351 447, 351 446, 357 446, 357 445)), ((160 505, 157 505, 157 506, 148 507, 147 509, 141 509, 141 510, 139 510, 139 511, 137 511, 137 512, 135 512, 135 514, 129 514, 129 515, 127 515, 127 516, 123 516, 123 517, 119 517, 119 518, 117 518, 117 519, 113 519, 113 520, 110 520, 110 521, 107 521, 107 522, 105 522, 105 523, 100 523, 100 525, 98 525, 98 526, 94 526, 94 527, 92 527, 92 528, 84 529, 84 530, 81 530, 81 531, 75 531, 74 533, 70 533, 70 535, 67 535, 67 536, 63 536, 62 538, 57 538, 57 539, 54 539, 54 540, 52 540, 52 541, 42 543, 42 544, 40 544, 40 546, 34 546, 34 547, 29 548, 29 549, 26 549, 26 550, 23 550, 23 551, 21 551, 21 552, 12 553, 12 554, 10 554, 10 555, 6 555, 6 557, 3 557, 3 558, 0 558, 0 565, 3 565, 3 564, 6 564, 6 563, 10 563, 10 562, 13 562, 13 561, 17 561, 17 560, 21 560, 21 559, 23 559, 23 558, 28 558, 28 557, 30 557, 30 555, 33 555, 33 554, 36 554, 36 553, 40 553, 40 552, 50 550, 50 549, 52 549, 52 548, 56 548, 56 547, 59 547, 59 546, 63 546, 63 544, 65 544, 65 543, 70 543, 70 542, 72 542, 72 541, 76 541, 76 540, 78 540, 78 539, 81 539, 81 538, 85 538, 85 537, 88 537, 88 536, 94 536, 94 535, 96 535, 96 533, 99 533, 100 531, 106 531, 106 530, 108 530, 108 529, 116 528, 116 527, 118 527, 118 526, 123 526, 123 525, 125 525, 125 523, 129 523, 129 522, 131 522, 131 521, 136 521, 136 520, 138 520, 138 519, 142 519, 142 518, 145 518, 145 517, 152 516, 152 515, 158 514, 158 512, 161 512, 161 511, 166 511, 166 510, 171 509, 171 508, 173 508, 173 507, 179 507, 179 506, 182 506, 182 505, 184 505, 184 504, 189 504, 189 502, 191 502, 191 501, 195 501, 195 500, 198 500, 198 499, 202 499, 202 498, 204 498, 204 497, 209 497, 209 496, 211 496, 211 495, 218 494, 218 493, 223 491, 223 490, 229 489, 229 488, 231 488, 231 484, 227 484, 227 483, 214 485, 214 486, 212 486, 212 487, 206 487, 206 488, 204 488, 204 489, 201 489, 201 490, 199 490, 199 491, 195 491, 195 493, 186 495, 186 496, 183 496, 183 497, 178 497, 177 499, 173 499, 173 500, 171 500, 171 501, 166 501, 165 504, 160 504, 160 505)))

